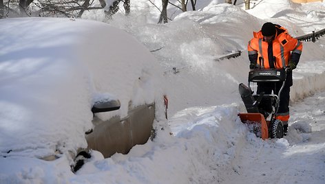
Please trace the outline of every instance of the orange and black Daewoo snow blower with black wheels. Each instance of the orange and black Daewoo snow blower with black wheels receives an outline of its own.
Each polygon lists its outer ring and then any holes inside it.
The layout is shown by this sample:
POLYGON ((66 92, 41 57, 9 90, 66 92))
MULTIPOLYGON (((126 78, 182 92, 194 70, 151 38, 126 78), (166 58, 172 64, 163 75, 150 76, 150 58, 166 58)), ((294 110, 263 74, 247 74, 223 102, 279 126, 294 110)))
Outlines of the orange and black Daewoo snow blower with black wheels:
POLYGON ((253 132, 263 140, 268 138, 282 138, 283 124, 276 119, 280 104, 280 94, 286 82, 286 69, 252 69, 249 71, 248 87, 240 83, 239 93, 247 109, 247 113, 239 113, 244 124, 253 125, 253 132), (278 94, 254 94, 251 82, 282 82, 278 94))

